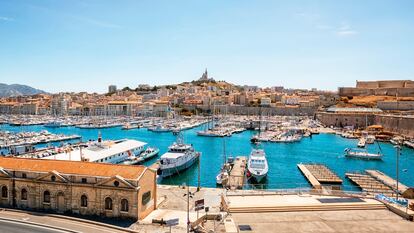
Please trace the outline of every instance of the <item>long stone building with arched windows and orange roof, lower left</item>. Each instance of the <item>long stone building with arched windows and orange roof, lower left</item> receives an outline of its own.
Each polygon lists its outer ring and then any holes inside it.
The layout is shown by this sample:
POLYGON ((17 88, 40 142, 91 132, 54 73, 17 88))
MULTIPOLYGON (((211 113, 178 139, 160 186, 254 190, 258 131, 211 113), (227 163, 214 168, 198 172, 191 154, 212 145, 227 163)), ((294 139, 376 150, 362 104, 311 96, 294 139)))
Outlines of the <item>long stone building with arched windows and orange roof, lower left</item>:
POLYGON ((156 208, 156 172, 144 166, 0 157, 0 205, 143 219, 156 208))

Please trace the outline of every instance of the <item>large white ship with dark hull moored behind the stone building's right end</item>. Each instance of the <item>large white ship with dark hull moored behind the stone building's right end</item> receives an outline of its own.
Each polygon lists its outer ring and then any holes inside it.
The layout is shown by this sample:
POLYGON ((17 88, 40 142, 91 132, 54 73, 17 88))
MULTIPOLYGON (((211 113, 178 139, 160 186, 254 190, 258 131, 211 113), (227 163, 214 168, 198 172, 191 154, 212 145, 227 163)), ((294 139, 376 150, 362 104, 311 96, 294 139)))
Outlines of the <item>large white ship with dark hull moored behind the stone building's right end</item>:
POLYGON ((161 178, 179 174, 191 167, 200 157, 201 153, 196 152, 192 145, 185 144, 182 134, 177 136, 177 141, 168 147, 168 152, 160 158, 158 176, 161 178))

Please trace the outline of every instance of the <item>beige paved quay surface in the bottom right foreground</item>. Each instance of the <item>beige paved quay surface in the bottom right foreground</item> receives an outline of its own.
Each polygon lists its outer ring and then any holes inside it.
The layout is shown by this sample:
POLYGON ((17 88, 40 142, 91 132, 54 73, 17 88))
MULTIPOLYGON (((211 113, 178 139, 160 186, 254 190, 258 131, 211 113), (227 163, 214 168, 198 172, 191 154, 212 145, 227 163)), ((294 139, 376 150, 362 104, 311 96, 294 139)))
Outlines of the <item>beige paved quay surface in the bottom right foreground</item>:
POLYGON ((230 218, 237 226, 249 225, 251 231, 243 231, 246 233, 414 232, 414 222, 389 210, 237 213, 231 214, 230 218))

